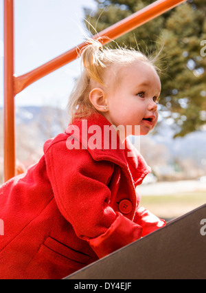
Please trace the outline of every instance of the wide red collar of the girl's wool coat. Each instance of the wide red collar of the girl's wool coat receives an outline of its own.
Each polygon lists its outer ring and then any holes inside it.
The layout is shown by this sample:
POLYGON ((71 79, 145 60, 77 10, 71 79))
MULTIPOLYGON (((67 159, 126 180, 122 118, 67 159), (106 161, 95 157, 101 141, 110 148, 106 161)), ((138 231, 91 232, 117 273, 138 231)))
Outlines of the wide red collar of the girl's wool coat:
POLYGON ((126 138, 123 145, 115 128, 99 113, 89 116, 87 120, 73 120, 65 133, 80 142, 77 146, 87 149, 93 160, 108 160, 129 169, 135 185, 141 184, 151 171, 130 140, 126 138))

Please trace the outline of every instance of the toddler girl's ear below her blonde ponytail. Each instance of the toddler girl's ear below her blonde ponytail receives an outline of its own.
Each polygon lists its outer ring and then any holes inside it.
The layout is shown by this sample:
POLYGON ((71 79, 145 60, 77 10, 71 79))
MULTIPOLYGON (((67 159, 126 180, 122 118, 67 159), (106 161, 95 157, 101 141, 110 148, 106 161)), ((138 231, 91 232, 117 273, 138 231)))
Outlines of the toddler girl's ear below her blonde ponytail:
POLYGON ((105 92, 100 87, 91 90, 89 100, 96 110, 104 113, 108 111, 105 92))

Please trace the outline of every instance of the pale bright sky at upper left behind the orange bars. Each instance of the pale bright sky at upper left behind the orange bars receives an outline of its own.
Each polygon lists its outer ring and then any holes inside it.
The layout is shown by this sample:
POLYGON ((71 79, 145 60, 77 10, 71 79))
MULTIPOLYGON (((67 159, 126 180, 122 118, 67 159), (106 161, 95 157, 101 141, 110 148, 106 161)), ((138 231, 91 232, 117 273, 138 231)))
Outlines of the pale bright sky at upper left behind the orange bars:
MULTIPOLYGON (((83 8, 94 0, 14 0, 14 73, 30 72, 84 41, 83 8)), ((49 105, 65 109, 80 61, 45 76, 15 97, 16 107, 49 105)), ((3 0, 0 0, 0 107, 3 106, 3 0)))

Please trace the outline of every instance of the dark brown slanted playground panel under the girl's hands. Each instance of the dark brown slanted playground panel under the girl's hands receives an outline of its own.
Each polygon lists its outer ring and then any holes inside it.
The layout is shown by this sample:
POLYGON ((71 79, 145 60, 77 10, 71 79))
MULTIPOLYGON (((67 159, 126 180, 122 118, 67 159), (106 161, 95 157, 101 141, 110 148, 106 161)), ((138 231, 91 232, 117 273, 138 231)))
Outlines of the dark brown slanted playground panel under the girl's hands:
POLYGON ((66 279, 206 279, 205 215, 206 205, 66 279))

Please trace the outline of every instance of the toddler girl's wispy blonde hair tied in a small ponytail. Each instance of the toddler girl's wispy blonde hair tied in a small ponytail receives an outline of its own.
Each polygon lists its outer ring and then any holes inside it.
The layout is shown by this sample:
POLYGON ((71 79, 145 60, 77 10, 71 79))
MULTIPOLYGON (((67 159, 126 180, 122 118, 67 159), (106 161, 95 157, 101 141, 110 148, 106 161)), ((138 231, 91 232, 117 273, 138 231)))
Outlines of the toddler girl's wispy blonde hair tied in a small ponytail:
POLYGON ((89 100, 92 82, 104 86, 106 70, 111 69, 114 65, 123 67, 135 61, 141 61, 150 63, 157 72, 159 71, 159 68, 155 66, 157 57, 150 58, 140 51, 119 46, 116 49, 103 47, 99 40, 94 39, 88 39, 87 46, 80 52, 80 56, 83 71, 71 92, 68 103, 71 122, 74 118, 87 118, 92 113, 98 112, 89 100))

